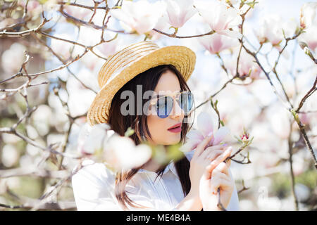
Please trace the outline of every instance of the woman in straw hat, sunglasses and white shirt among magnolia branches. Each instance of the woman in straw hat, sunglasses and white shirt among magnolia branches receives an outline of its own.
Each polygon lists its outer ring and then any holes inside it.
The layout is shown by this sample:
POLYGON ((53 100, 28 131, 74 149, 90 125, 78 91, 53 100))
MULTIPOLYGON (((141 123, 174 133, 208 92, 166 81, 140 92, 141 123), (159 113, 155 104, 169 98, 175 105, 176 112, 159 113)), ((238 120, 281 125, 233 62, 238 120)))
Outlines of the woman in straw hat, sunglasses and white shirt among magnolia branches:
MULTIPOLYGON (((185 46, 159 48, 151 41, 119 51, 99 72, 101 91, 88 110, 89 124, 106 122, 122 136, 131 127, 135 144, 149 141, 167 147, 184 143, 193 105, 186 81, 195 60, 194 52, 185 46), (134 99, 129 103, 134 105, 123 110, 127 91, 132 91, 134 99), (147 91, 154 95, 152 104, 144 107, 149 103, 149 98, 143 98, 147 91), (140 113, 139 106, 147 111, 140 113), (170 129, 175 126, 178 128, 170 129)), ((86 160, 85 167, 72 178, 77 210, 220 210, 218 188, 223 207, 238 210, 229 164, 223 162, 231 148, 206 148, 212 138, 210 134, 186 157, 168 165, 151 159, 128 172, 114 173, 101 163, 86 160)))

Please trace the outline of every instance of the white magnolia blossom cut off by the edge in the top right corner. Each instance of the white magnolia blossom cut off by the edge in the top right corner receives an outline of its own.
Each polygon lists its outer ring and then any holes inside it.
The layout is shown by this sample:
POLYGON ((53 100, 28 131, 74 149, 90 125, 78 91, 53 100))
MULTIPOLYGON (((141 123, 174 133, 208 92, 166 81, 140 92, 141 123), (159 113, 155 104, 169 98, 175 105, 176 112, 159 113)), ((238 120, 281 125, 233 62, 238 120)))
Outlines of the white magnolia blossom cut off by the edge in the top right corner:
POLYGON ((301 8, 301 27, 307 28, 313 24, 316 24, 316 11, 317 3, 316 2, 307 2, 301 8))

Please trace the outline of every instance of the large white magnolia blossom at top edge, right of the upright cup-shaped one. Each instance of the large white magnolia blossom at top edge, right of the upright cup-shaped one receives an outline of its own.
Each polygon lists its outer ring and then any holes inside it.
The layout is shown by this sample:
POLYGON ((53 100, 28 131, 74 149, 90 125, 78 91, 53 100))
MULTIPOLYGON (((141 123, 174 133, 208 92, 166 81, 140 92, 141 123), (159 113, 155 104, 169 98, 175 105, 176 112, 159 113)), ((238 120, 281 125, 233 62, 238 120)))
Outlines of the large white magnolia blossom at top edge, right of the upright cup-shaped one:
POLYGON ((220 1, 197 1, 194 6, 213 31, 230 37, 242 37, 240 32, 230 30, 242 23, 240 12, 237 9, 228 7, 220 1))

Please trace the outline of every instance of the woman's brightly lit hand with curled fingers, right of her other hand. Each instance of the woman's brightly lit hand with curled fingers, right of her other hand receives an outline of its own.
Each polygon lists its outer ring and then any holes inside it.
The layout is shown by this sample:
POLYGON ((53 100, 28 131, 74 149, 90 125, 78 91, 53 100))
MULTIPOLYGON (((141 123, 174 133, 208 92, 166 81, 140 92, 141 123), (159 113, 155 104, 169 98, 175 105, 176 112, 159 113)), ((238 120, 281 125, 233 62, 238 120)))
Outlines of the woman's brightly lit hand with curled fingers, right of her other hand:
MULTIPOLYGON (((227 158, 231 154, 231 150, 226 152, 223 154, 223 158, 227 158)), ((222 160, 220 157, 221 155, 217 160, 222 160)), ((223 207, 227 207, 234 189, 234 181, 229 175, 228 165, 225 162, 220 162, 216 167, 211 163, 201 177, 199 197, 204 210, 220 210, 217 207, 218 188, 220 190, 220 203, 223 207)))

